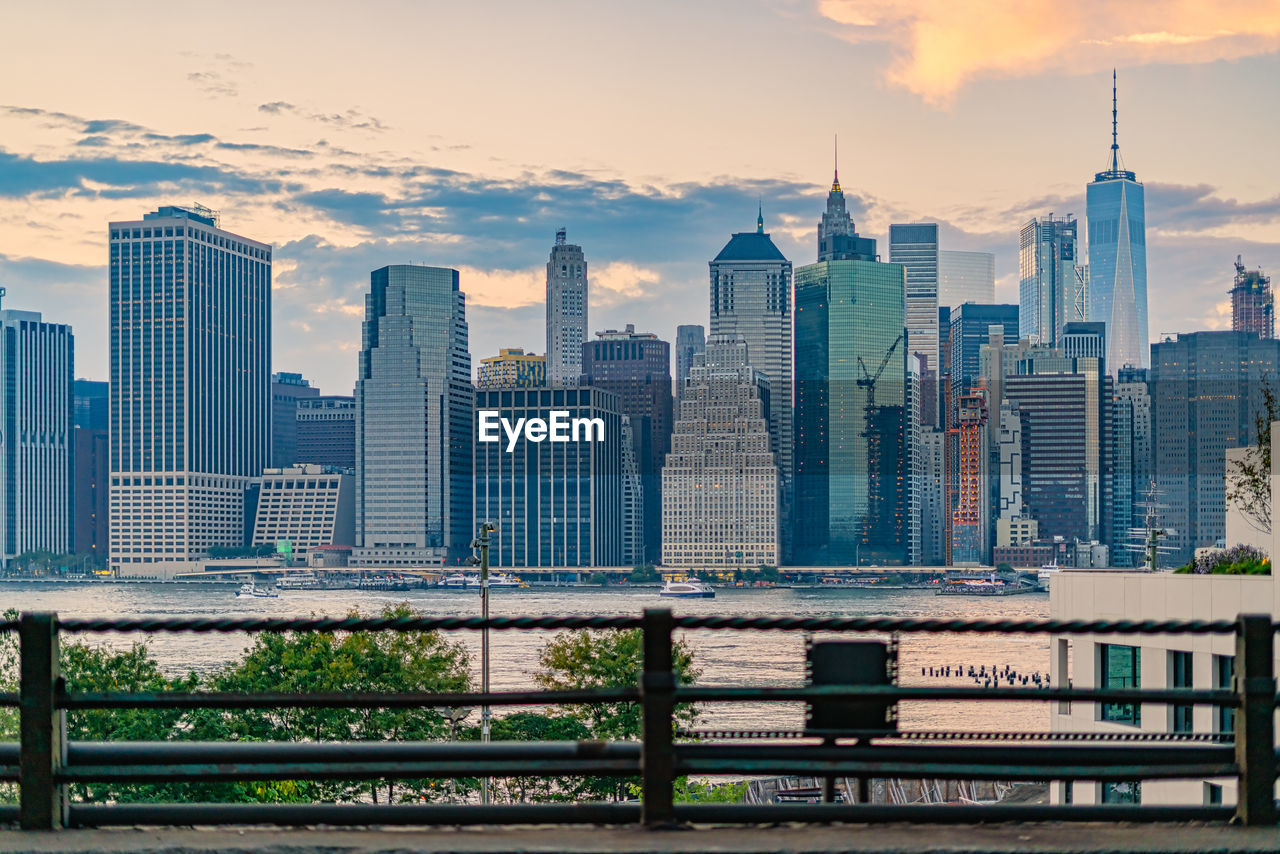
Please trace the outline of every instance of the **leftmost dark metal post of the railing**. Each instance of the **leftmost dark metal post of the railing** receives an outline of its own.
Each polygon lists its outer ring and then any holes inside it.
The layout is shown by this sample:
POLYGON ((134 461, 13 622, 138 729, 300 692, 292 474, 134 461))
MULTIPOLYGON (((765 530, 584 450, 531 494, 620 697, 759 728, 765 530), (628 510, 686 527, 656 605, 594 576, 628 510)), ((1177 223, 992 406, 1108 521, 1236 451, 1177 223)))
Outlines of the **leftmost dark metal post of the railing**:
POLYGON ((58 830, 67 823, 67 794, 56 781, 67 750, 67 717, 58 708, 58 615, 26 612, 18 621, 22 712, 23 830, 58 830))

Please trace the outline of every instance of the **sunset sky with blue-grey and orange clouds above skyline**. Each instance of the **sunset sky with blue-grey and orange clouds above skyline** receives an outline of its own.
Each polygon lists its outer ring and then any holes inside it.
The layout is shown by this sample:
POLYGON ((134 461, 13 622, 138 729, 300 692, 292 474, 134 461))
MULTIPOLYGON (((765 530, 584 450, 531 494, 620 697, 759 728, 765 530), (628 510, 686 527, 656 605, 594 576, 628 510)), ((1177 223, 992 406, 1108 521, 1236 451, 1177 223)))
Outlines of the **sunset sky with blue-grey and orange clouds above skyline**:
MULTIPOLYGON (((106 223, 201 202, 274 243, 274 367, 355 383, 369 271, 462 271, 472 360, 541 352, 558 227, 593 329, 707 321, 735 230, 815 257, 832 137, 858 230, 995 252, 1120 150, 1147 186, 1152 338, 1280 273, 1280 3, 18 4, 0 0, 4 306, 106 378, 106 223)), ((1280 279, 1277 279, 1280 282, 1280 279)))

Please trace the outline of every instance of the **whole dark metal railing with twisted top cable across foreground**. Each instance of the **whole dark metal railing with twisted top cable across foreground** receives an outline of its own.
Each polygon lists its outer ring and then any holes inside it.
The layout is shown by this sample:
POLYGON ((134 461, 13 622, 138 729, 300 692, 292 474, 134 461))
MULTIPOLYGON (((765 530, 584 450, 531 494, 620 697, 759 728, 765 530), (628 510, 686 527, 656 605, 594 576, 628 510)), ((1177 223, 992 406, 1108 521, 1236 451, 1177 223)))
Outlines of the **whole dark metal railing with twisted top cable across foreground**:
MULTIPOLYGON (((974 822, 974 821, 1189 821, 1276 822, 1276 625, 1267 616, 1234 622, 1196 621, 957 621, 855 618, 676 617, 646 609, 640 617, 497 618, 227 618, 59 620, 49 612, 0 622, 17 631, 20 690, 0 694, 0 705, 20 709, 20 741, 0 743, 0 782, 19 784, 19 805, 0 805, 0 825, 23 828, 109 825, 499 825, 623 823, 649 827, 675 822, 974 822), (460 631, 639 629, 644 666, 635 688, 449 694, 233 694, 68 690, 59 672, 59 638, 83 632, 283 632, 283 631, 460 631), (809 685, 736 688, 678 684, 672 666, 677 630, 791 632, 988 632, 1028 635, 1235 635, 1236 675, 1230 690, 932 688, 899 685, 809 685), (710 743, 681 739, 681 703, 837 700, 1038 700, 1202 704, 1236 709, 1234 744, 1204 743, 1152 732, 964 734, 891 732, 872 737, 710 743), (635 702, 641 705, 640 741, 102 741, 67 740, 67 712, 81 709, 421 708, 480 705, 571 705, 635 702), (1061 735, 1064 743, 1053 741, 1061 735), (980 743, 970 743, 973 740, 980 743), (991 740, 1000 740, 992 744, 991 740), (1036 739, 1039 744, 1019 744, 1036 739), (68 785, 92 782, 191 782, 259 780, 420 780, 529 776, 639 777, 639 803, 580 804, 223 804, 73 803, 68 785), (859 781, 859 802, 818 804, 675 803, 682 776, 806 775, 859 781), (1235 807, 1103 805, 925 805, 865 803, 870 778, 1134 781, 1235 777, 1235 807)), ((804 734, 758 732, 755 736, 804 734)), ((840 737, 837 737, 840 736, 840 737)))

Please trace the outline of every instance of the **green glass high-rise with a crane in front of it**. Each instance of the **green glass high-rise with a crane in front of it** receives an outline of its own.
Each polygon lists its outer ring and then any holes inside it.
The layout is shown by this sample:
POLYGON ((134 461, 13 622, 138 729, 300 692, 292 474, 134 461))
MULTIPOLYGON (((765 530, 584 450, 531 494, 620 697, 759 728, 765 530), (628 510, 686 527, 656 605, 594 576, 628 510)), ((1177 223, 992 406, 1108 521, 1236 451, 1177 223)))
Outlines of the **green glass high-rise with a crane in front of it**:
POLYGON ((909 558, 904 283, 900 264, 796 270, 797 563, 909 558))

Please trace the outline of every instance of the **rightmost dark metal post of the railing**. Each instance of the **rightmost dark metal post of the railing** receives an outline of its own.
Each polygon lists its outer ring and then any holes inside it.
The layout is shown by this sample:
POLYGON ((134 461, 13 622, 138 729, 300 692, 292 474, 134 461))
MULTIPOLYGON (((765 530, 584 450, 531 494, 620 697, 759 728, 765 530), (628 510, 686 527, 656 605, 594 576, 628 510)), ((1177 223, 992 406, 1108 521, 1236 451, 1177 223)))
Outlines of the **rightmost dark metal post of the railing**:
POLYGON ((1240 615, 1235 629, 1235 821, 1276 823, 1275 630, 1266 615, 1240 615))

